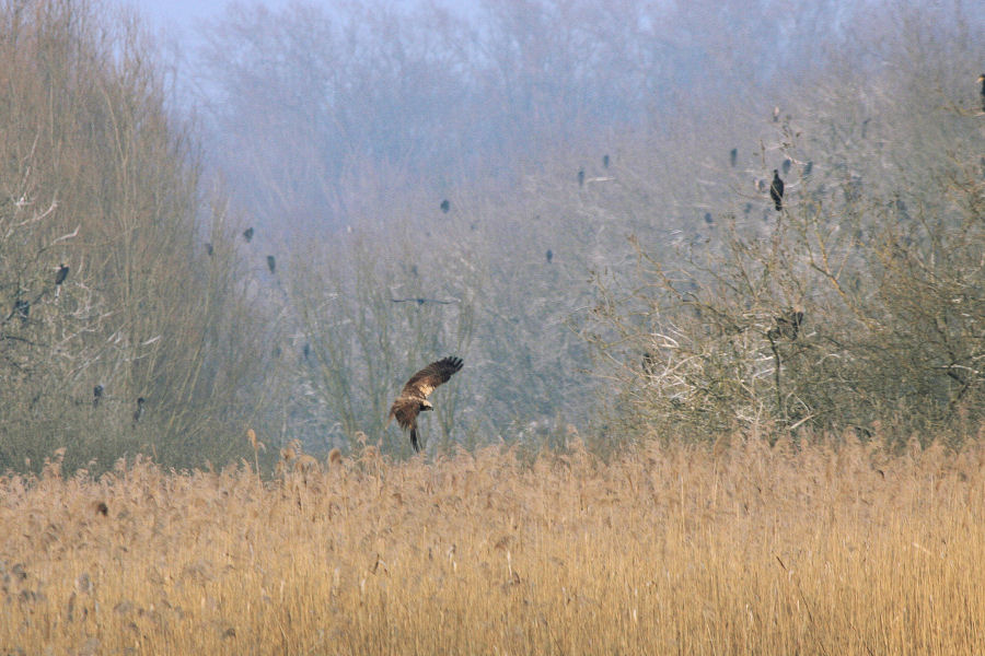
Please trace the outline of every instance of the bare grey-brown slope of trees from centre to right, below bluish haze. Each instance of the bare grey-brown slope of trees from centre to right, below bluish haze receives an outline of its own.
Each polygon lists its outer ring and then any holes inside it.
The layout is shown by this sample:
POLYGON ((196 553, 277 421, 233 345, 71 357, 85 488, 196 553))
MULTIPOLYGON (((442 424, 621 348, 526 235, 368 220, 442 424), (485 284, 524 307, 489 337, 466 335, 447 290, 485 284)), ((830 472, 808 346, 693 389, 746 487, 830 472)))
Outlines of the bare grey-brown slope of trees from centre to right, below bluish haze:
MULTIPOLYGON (((862 23, 768 102, 739 91, 661 114, 659 129, 559 140, 511 168, 515 185, 367 194, 346 230, 309 231, 322 238, 282 274, 303 316, 286 326, 308 345, 286 380, 286 434, 408 453, 383 430, 387 405, 452 352, 466 365, 429 423, 442 445, 974 426, 976 297, 946 317, 946 343, 915 308, 942 312, 981 276, 980 33, 923 9, 862 23), (887 259, 900 244, 919 259, 887 259), (924 261, 954 267, 953 284, 924 284, 924 261)), ((361 171, 352 189, 391 181, 385 163, 361 171)))

